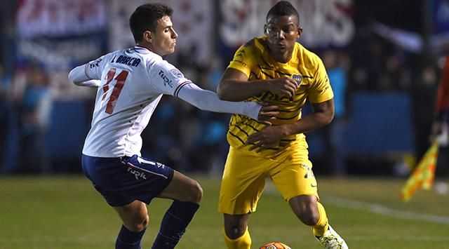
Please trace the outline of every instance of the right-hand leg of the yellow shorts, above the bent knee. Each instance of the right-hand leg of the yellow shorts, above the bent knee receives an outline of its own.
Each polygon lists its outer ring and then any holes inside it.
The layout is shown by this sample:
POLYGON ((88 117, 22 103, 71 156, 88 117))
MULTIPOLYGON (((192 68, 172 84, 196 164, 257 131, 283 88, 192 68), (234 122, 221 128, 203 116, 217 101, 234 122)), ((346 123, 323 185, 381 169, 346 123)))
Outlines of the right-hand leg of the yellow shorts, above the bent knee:
POLYGON ((319 197, 316 178, 308 160, 302 163, 286 161, 270 170, 270 177, 286 201, 302 195, 319 197))

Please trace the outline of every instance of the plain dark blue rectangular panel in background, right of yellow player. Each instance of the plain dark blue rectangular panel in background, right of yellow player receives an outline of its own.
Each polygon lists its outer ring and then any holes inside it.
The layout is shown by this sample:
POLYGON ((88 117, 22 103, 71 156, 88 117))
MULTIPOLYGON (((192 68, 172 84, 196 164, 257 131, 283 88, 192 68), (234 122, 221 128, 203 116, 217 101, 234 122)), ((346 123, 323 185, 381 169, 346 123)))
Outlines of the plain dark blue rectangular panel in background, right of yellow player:
POLYGON ((406 93, 357 93, 347 126, 347 152, 382 156, 414 150, 411 101, 406 93))

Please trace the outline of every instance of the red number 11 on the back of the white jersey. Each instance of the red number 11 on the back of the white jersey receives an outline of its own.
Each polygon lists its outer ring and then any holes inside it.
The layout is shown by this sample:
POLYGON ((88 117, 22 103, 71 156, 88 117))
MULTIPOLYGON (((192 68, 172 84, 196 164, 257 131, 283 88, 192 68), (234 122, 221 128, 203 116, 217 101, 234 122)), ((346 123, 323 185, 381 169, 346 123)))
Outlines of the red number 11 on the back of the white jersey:
POLYGON ((109 69, 109 71, 106 74, 106 83, 103 85, 103 97, 101 100, 105 100, 107 90, 109 90, 109 83, 111 83, 113 80, 116 81, 114 88, 112 89, 112 94, 109 97, 109 100, 106 104, 106 110, 105 112, 107 114, 112 114, 114 112, 114 107, 116 105, 117 100, 119 99, 119 95, 121 93, 121 89, 125 85, 126 77, 128 77, 128 71, 123 70, 120 72, 119 75, 117 75, 115 78, 116 69, 113 67, 109 69))

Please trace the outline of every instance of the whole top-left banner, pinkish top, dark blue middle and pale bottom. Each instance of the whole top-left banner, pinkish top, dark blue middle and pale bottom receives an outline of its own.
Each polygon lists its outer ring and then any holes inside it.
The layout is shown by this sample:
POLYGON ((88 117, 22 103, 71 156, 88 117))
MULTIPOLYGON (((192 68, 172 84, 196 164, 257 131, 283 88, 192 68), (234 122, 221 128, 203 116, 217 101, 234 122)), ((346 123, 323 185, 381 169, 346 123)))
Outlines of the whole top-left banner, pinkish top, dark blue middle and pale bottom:
POLYGON ((17 11, 19 66, 32 60, 48 69, 68 69, 105 51, 105 1, 22 0, 17 11))

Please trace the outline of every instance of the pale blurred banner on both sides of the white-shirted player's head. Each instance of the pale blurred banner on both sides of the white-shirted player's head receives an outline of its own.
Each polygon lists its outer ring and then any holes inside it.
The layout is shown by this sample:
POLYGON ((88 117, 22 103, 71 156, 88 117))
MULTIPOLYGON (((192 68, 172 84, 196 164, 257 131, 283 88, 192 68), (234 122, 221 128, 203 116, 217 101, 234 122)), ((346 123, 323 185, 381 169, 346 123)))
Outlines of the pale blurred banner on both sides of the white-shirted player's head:
POLYGON ((179 35, 177 52, 184 53, 192 62, 207 64, 213 49, 214 1, 210 0, 110 0, 109 50, 133 46, 135 41, 129 29, 129 17, 141 4, 163 2, 173 8, 173 27, 179 35))

